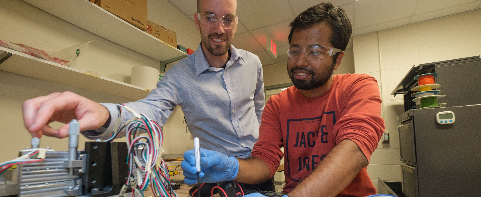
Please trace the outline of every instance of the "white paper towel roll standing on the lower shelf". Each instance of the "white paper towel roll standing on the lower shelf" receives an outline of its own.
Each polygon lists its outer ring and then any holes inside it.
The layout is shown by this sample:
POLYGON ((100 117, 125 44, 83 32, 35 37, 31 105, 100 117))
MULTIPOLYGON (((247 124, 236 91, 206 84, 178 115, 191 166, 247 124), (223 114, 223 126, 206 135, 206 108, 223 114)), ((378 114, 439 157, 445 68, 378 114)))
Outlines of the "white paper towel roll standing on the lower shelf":
POLYGON ((148 66, 132 68, 132 85, 152 90, 157 87, 157 82, 159 82, 159 70, 148 66))

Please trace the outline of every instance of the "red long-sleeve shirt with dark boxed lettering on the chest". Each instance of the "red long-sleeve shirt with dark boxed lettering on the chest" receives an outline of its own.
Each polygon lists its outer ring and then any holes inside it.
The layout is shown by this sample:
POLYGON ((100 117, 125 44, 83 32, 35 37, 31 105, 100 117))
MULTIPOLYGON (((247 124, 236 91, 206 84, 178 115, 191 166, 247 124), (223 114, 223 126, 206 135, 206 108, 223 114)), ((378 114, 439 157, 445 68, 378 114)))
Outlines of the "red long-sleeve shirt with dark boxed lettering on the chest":
MULTIPOLYGON (((294 86, 271 96, 252 156, 274 176, 284 154, 284 192, 291 192, 343 139, 354 141, 369 161, 384 132, 376 79, 366 74, 335 75, 329 90, 308 98, 294 86)), ((325 180, 329 181, 329 180, 325 180)), ((366 167, 338 197, 376 194, 366 167)))

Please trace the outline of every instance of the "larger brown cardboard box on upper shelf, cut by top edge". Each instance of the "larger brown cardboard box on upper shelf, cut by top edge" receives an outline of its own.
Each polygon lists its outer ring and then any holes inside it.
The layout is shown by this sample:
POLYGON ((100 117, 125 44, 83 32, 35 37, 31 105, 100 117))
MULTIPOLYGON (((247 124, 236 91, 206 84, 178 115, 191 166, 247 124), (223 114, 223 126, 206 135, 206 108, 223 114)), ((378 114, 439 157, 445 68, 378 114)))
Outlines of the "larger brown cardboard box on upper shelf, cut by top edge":
POLYGON ((142 31, 147 29, 147 0, 96 0, 95 4, 142 31))

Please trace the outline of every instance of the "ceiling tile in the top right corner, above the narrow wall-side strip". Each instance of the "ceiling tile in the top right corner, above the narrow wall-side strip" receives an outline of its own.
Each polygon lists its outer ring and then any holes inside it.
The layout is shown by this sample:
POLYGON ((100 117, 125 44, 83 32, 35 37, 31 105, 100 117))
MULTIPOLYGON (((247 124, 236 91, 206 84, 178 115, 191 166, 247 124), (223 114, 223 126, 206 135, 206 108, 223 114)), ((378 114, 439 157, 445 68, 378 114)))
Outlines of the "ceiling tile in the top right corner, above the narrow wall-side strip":
MULTIPOLYGON (((421 14, 421 13, 426 13, 426 12, 431 12, 435 10, 440 10, 444 8, 449 8, 452 6, 457 6, 465 3, 469 3, 472 1, 476 0, 419 0, 418 2, 418 7, 416 8, 416 14, 421 14)), ((474 5, 473 9, 476 9, 476 6, 474 5)))

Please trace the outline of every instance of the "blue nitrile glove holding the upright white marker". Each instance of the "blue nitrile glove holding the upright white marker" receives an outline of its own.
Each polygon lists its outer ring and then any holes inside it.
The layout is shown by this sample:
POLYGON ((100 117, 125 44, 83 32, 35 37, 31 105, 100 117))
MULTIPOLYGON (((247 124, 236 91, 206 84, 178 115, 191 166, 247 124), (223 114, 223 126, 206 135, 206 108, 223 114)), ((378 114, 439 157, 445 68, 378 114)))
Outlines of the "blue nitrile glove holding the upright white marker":
MULTIPOLYGON (((217 151, 200 149, 201 152, 201 183, 217 183, 232 181, 237 177, 239 162, 235 157, 228 157, 217 151)), ((184 169, 184 182, 187 185, 197 183, 197 168, 195 168, 194 150, 184 153, 184 161, 180 163, 184 169)))

